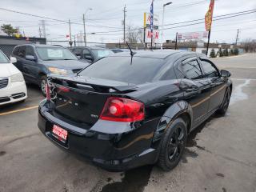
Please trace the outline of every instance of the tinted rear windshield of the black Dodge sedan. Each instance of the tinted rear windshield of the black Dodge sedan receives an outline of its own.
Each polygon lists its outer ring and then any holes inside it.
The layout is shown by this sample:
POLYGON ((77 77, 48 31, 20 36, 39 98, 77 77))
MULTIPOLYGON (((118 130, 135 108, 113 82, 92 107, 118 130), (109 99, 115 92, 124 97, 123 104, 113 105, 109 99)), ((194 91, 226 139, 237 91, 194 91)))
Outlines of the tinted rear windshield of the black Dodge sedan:
POLYGON ((86 67, 79 75, 140 84, 152 82, 163 65, 159 58, 108 57, 86 67))

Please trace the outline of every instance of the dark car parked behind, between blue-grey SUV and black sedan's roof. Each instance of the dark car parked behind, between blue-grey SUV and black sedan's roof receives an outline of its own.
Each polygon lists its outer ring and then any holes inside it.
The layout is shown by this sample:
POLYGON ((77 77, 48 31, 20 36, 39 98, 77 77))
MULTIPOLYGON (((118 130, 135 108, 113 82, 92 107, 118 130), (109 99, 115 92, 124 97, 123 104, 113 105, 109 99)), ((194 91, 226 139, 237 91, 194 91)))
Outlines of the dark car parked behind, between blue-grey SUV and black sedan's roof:
POLYGON ((70 48, 70 50, 78 58, 90 63, 97 61, 99 58, 104 58, 111 54, 114 54, 112 50, 108 50, 101 47, 76 46, 70 48))

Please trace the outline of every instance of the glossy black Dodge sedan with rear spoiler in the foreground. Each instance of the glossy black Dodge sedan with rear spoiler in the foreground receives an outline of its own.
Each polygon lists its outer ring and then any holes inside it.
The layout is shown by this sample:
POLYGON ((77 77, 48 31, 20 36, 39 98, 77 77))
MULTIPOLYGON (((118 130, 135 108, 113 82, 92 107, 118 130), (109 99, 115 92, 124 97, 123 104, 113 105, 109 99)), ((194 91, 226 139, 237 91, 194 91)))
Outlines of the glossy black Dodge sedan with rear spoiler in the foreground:
POLYGON ((102 58, 75 76, 49 77, 38 127, 64 150, 107 170, 177 166, 187 135, 225 114, 230 73, 203 54, 142 51, 102 58))

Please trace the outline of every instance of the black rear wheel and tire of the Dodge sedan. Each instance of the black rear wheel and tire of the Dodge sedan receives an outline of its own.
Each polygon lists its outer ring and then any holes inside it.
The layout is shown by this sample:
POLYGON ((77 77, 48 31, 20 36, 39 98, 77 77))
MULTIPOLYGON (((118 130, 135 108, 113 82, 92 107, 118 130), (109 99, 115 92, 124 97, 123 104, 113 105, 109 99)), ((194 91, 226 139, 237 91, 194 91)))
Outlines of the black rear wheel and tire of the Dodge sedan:
POLYGON ((158 166, 162 170, 169 171, 178 165, 185 150, 186 138, 186 122, 182 118, 175 119, 162 138, 162 146, 158 158, 158 166))

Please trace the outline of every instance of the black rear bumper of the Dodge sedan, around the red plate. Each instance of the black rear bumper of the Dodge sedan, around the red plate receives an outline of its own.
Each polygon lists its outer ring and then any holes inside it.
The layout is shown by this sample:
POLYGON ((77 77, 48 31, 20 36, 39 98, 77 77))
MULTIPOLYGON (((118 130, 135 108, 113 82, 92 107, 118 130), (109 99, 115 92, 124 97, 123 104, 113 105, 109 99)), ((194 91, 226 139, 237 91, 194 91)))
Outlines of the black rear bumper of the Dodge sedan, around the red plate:
MULTIPOLYGON (((46 109, 42 102, 38 108, 38 128, 42 134, 62 150, 78 154, 106 170, 129 170, 137 166, 154 164, 158 158, 157 148, 151 147, 154 132, 150 130, 150 126, 147 126, 147 129, 140 127, 130 132, 107 134, 95 131, 94 126, 90 130, 85 130, 70 125, 55 118, 46 109), (52 135, 51 129, 54 124, 68 131, 65 144, 52 135)), ((155 122, 157 121, 156 119, 155 122)))

